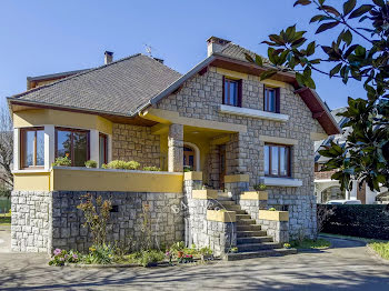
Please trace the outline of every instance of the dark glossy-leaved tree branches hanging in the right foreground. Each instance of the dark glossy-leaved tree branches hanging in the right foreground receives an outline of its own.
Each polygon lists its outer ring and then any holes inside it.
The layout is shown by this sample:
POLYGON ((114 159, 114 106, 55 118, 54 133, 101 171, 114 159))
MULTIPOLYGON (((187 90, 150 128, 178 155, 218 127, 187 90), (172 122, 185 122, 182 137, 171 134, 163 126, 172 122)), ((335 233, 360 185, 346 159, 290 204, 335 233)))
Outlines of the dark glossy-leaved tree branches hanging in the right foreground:
MULTIPOLYGON (((278 71, 291 71, 300 87, 316 88, 312 71, 362 82, 367 99, 348 98, 348 108, 339 116, 348 118, 343 128, 351 127, 347 142, 330 146, 319 151, 328 157, 323 170, 338 169, 332 179, 339 180, 341 189, 352 189, 351 181, 359 185, 367 182, 371 190, 389 187, 389 3, 372 0, 357 6, 357 0, 339 1, 331 7, 326 0, 298 0, 293 7, 312 6, 319 12, 310 24, 318 26, 316 33, 329 33, 341 28, 331 43, 319 44, 306 38, 307 31, 297 31, 296 26, 270 34, 268 44, 268 70, 261 79, 278 71), (332 63, 330 70, 323 63, 332 63)), ((246 54, 246 58, 263 66, 263 59, 246 54)))

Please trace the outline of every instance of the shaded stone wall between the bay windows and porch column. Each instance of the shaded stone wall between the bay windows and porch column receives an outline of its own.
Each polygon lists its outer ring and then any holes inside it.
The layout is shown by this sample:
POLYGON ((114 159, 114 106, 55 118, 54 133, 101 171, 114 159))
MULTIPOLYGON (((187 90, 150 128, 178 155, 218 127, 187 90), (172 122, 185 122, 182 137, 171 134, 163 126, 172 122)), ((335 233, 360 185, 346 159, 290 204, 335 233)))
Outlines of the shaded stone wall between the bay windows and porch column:
POLYGON ((112 159, 160 167, 160 136, 151 134, 150 127, 113 123, 112 159))

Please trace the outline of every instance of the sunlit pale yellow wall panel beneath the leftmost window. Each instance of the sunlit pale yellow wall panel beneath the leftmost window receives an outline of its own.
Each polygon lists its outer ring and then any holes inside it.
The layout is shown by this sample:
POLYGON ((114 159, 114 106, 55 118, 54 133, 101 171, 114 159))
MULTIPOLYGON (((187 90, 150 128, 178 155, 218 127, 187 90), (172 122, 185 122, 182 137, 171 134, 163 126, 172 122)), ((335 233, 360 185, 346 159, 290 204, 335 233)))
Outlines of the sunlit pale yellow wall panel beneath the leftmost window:
POLYGON ((22 191, 50 191, 50 172, 14 173, 13 189, 22 191))

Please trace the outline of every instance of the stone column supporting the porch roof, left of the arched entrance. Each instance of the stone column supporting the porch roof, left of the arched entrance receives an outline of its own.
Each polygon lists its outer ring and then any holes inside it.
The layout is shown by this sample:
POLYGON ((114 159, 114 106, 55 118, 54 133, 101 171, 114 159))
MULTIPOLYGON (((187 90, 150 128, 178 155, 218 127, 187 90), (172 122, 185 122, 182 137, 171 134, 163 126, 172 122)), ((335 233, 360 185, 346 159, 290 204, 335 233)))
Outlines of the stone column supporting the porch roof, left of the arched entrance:
POLYGON ((183 171, 183 126, 170 124, 168 136, 168 170, 183 171))

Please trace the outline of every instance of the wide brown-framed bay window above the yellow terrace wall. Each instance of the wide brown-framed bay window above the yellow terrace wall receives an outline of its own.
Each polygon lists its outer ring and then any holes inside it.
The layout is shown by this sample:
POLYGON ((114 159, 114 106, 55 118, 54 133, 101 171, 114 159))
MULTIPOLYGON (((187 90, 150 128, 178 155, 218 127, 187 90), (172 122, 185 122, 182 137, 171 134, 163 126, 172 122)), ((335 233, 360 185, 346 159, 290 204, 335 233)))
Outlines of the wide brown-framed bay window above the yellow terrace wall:
POLYGON ((56 128, 56 158, 67 155, 73 167, 84 167, 89 160, 89 131, 56 128))

